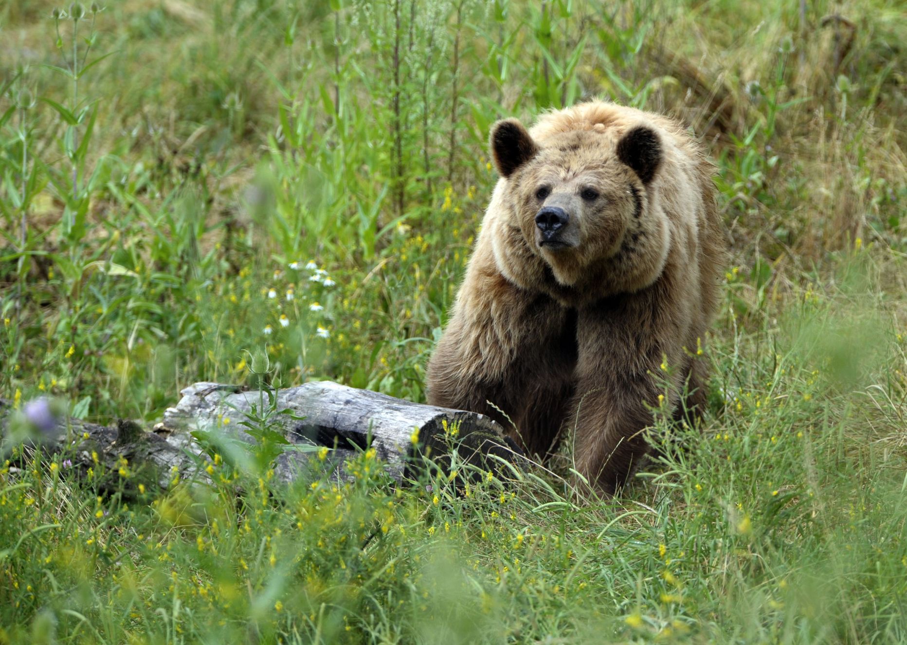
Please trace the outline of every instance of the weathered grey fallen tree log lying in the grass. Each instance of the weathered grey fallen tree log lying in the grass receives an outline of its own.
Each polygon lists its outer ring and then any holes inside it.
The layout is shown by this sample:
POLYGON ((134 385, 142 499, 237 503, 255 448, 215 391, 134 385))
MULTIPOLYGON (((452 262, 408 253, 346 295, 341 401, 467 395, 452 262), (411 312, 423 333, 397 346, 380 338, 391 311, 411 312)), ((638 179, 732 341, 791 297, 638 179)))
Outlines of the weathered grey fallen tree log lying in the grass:
MULTIPOLYGON (((278 390, 273 400, 266 392, 216 383, 197 383, 181 394, 180 402, 166 410, 152 432, 123 420, 107 427, 54 419, 41 428, 44 449, 65 452, 83 467, 100 464, 102 470, 114 472, 126 459, 130 472, 141 473, 134 482, 166 486, 174 474, 186 474, 199 463, 202 448, 193 431, 254 443, 256 438, 243 423, 268 413, 260 425, 277 430, 291 445, 330 448, 329 462, 340 477, 346 459, 367 447, 375 449, 397 481, 414 476, 426 457, 448 462, 452 447, 463 461, 483 469, 496 470, 500 464, 487 459, 489 454, 508 461, 516 456, 502 438, 500 425, 487 416, 424 406, 328 381, 278 390)), ((8 406, 0 404, 0 419, 8 412, 8 406)), ((6 419, 2 425, 6 439, 8 425, 6 419)), ((277 458, 275 475, 283 481, 296 479, 309 470, 312 455, 285 450, 277 458)))

